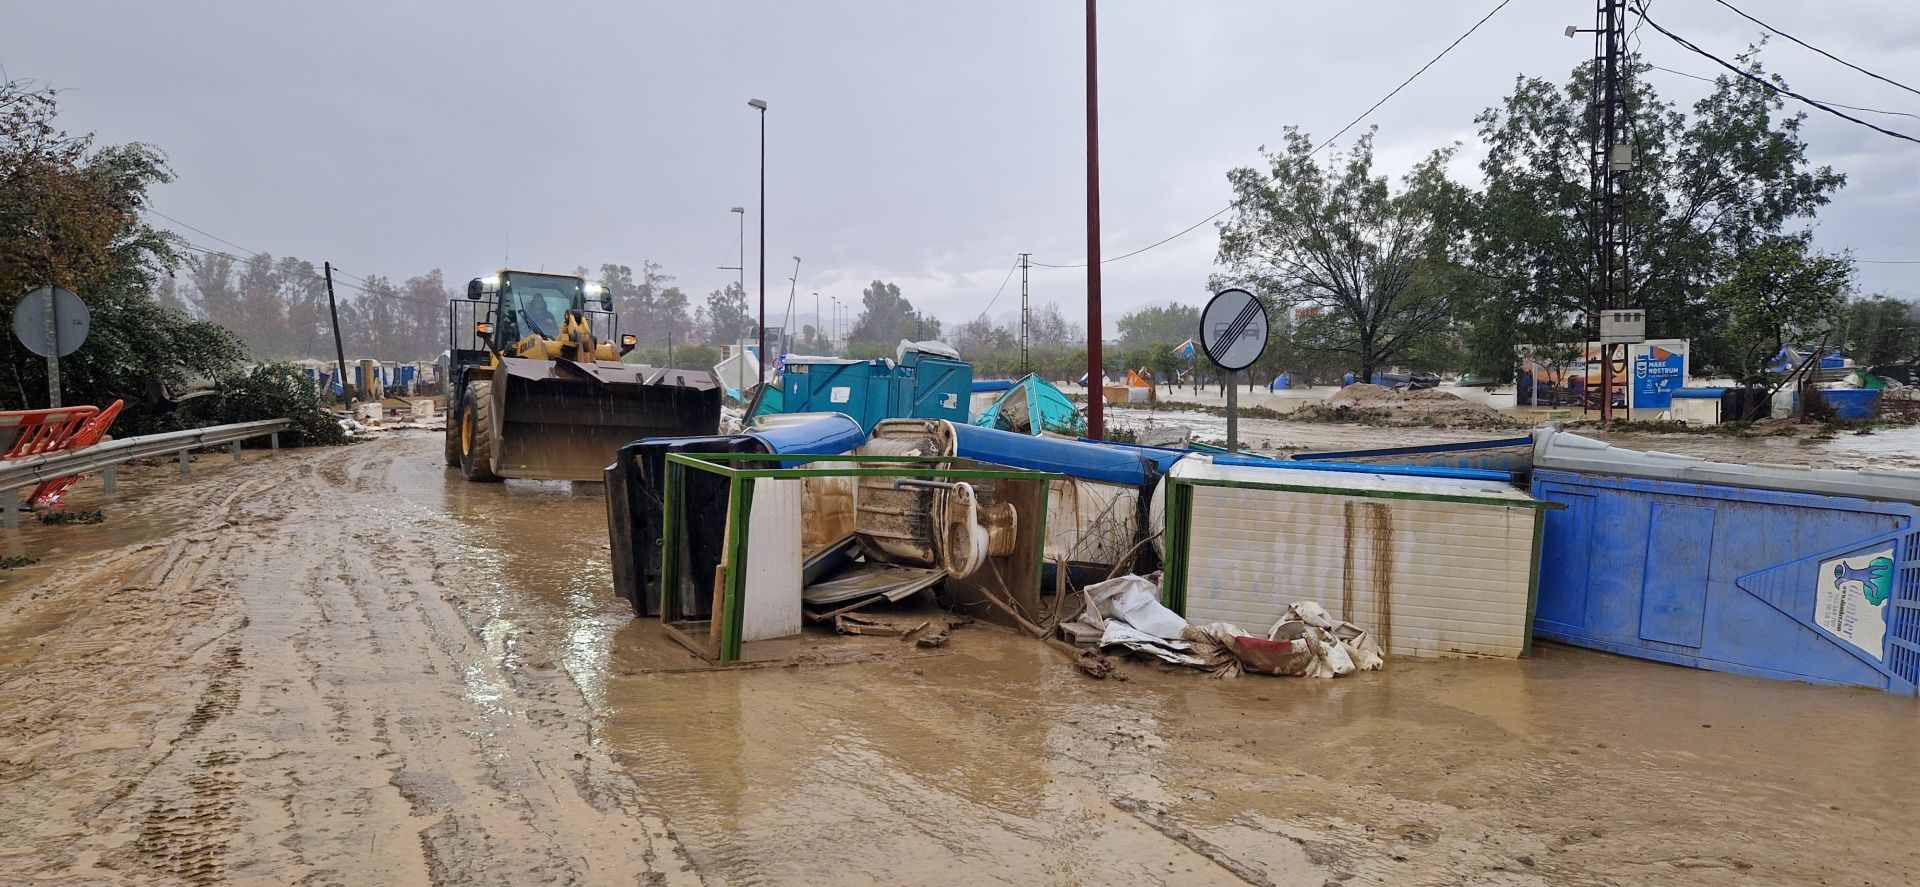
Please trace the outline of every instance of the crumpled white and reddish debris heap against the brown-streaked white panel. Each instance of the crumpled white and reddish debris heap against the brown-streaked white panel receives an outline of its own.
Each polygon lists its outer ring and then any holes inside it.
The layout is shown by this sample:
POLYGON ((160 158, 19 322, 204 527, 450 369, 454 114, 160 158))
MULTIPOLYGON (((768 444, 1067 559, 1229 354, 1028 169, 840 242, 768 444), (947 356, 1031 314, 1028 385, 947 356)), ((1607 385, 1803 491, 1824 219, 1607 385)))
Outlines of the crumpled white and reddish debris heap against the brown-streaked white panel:
POLYGON ((1302 601, 1265 637, 1227 622, 1188 624, 1160 603, 1160 574, 1117 576, 1085 589, 1085 611, 1062 622, 1060 634, 1077 645, 1123 649, 1213 678, 1240 672, 1338 678, 1386 664, 1373 635, 1302 601))

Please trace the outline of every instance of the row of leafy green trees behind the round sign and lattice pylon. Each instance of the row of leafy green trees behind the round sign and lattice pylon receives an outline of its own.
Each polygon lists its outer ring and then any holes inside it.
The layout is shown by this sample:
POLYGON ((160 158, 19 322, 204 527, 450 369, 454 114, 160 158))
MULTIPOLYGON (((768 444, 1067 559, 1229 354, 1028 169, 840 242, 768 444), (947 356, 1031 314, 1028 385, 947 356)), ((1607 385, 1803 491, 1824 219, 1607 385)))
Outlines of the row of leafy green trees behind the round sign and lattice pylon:
MULTIPOLYGON (((1741 63, 1784 86, 1755 52, 1741 63)), ((1645 65, 1630 71, 1628 292, 1649 336, 1688 338, 1699 372, 1743 380, 1789 346, 1920 357, 1910 307, 1859 300, 1853 259, 1811 244, 1814 213, 1845 177, 1807 161, 1803 115, 1734 77, 1684 111, 1645 83, 1645 65)), ((1511 378, 1515 346, 1584 342, 1603 307, 1590 286, 1590 84, 1586 69, 1559 86, 1519 79, 1478 117, 1478 188, 1446 175, 1452 146, 1396 184, 1375 171, 1371 134, 1321 161, 1296 129, 1263 169, 1231 171, 1236 209, 1219 225, 1210 284, 1271 303, 1263 369, 1511 378)))

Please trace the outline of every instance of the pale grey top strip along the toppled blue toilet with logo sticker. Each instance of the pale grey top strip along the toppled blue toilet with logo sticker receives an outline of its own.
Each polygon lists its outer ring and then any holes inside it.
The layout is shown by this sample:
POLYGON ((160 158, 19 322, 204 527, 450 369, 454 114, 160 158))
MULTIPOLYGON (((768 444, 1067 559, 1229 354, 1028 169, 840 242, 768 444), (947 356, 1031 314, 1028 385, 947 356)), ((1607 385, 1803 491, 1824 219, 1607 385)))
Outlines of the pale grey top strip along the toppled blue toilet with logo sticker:
POLYGON ((1920 503, 1920 472, 1914 470, 1713 463, 1692 455, 1617 447, 1551 428, 1534 432, 1534 468, 1920 503))

